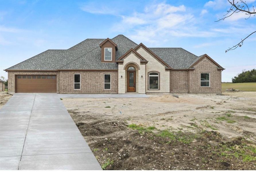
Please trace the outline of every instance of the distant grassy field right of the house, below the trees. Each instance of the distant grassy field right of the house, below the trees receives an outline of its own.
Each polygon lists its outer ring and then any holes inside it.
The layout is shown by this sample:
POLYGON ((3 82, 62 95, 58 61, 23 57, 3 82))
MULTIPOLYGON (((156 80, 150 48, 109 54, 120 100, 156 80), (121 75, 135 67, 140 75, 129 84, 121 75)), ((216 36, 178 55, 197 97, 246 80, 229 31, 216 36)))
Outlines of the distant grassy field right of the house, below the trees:
POLYGON ((256 83, 221 83, 221 89, 239 89, 240 91, 256 91, 256 83))

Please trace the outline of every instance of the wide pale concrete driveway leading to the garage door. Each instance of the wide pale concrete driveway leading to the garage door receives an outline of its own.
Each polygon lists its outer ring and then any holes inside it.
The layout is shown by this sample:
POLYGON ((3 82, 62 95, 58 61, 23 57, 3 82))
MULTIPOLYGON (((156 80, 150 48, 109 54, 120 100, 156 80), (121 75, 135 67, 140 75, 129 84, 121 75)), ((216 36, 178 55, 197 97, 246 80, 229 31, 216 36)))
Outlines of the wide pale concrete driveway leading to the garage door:
POLYGON ((58 94, 15 93, 0 110, 0 170, 101 170, 58 94))

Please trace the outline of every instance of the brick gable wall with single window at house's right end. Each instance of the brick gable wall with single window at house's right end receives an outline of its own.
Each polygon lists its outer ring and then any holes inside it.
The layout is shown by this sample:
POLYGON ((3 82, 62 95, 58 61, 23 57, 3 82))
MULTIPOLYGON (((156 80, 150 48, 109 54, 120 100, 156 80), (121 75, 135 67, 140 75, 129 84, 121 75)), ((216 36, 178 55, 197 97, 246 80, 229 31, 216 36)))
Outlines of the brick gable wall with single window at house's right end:
POLYGON ((194 66, 195 70, 189 71, 189 91, 195 92, 221 92, 221 71, 217 70, 208 58, 203 58, 194 66), (210 87, 200 87, 200 73, 210 73, 210 87))

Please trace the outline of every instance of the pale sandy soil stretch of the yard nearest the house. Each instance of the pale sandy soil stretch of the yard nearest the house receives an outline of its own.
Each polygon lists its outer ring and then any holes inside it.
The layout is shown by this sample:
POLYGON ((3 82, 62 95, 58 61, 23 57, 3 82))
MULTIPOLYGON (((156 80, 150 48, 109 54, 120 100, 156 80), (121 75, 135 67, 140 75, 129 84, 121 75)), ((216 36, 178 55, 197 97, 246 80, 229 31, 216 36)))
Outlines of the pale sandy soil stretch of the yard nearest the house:
POLYGON ((75 112, 106 120, 125 120, 128 124, 155 126, 161 130, 193 130, 187 127, 191 122, 212 130, 201 125, 202 121, 207 121, 228 138, 250 133, 250 139, 256 141, 256 92, 177 95, 179 98, 171 94, 151 94, 150 98, 137 99, 63 99, 63 103, 75 112), (218 117, 235 122, 227 123, 227 120, 216 119, 218 117))

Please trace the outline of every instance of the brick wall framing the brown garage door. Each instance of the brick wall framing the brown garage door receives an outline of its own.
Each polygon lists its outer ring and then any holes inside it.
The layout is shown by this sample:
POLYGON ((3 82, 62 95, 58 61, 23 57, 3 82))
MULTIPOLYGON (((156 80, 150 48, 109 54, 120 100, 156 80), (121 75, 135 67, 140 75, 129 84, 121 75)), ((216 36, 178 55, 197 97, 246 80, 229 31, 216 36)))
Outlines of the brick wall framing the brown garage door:
POLYGON ((9 71, 8 72, 8 93, 15 93, 15 75, 57 75, 57 93, 60 92, 60 76, 56 72, 34 72, 34 71, 9 71))

